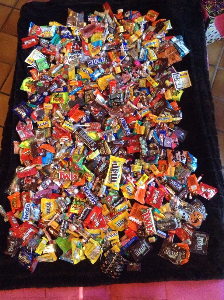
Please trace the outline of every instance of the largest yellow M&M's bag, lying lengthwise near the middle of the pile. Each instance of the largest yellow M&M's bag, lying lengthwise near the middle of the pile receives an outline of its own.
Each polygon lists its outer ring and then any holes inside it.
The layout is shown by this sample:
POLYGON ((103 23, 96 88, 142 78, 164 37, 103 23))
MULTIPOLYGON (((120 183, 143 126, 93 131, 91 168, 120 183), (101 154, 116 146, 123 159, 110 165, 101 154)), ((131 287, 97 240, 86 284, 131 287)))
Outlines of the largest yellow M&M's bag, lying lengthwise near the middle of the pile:
POLYGON ((125 163, 124 158, 110 156, 110 165, 107 172, 107 177, 104 184, 114 190, 119 190, 119 183, 121 181, 122 166, 125 163))

